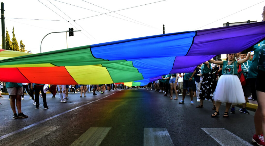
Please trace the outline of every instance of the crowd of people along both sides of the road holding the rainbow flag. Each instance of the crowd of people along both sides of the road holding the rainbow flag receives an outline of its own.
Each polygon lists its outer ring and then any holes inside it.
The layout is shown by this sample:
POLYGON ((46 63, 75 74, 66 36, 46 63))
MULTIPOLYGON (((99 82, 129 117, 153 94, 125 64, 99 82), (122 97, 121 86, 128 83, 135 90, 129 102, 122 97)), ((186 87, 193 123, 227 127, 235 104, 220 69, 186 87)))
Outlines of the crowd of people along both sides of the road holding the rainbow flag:
MULTIPOLYGON (((263 8, 262 17, 265 21, 265 7, 263 8)), ((265 132, 265 40, 260 43, 236 54, 227 54, 226 60, 220 58, 211 59, 202 64, 191 73, 174 73, 162 76, 162 79, 147 84, 144 88, 157 92, 163 92, 164 96, 178 100, 178 95, 182 95, 179 104, 184 104, 186 95, 189 95, 190 104, 194 104, 193 97, 200 102, 196 108, 203 108, 204 100, 211 100, 213 103, 212 110, 215 110, 211 117, 219 116, 220 105, 226 103, 223 117, 229 117, 230 113, 235 114, 234 106, 243 104, 241 113, 249 114, 246 110, 248 97, 251 95, 254 100, 258 101, 258 108, 254 115, 255 134, 252 141, 258 145, 265 145, 263 133, 265 132), (254 56, 250 51, 254 52, 254 56), (251 60, 250 56, 252 56, 251 60)), ((3 92, 3 86, 7 88, 10 96, 10 106, 13 111, 13 119, 28 117, 21 111, 21 100, 24 99, 25 91, 29 93, 30 99, 39 109, 39 95, 43 100, 44 109, 48 109, 46 102, 46 92, 49 90, 52 97, 55 98, 59 93, 60 102, 67 102, 68 93, 77 93, 80 91, 80 97, 86 97, 86 92, 96 91, 103 94, 105 90, 118 90, 121 88, 131 88, 123 84, 99 84, 99 85, 45 85, 45 84, 28 84, 28 83, 11 83, 0 82, 0 89, 3 92), (16 107, 18 114, 16 113, 16 107)), ((134 87, 140 88, 140 87, 134 87)), ((143 87, 142 87, 143 88, 143 87)), ((0 97, 1 96, 0 92, 0 97)), ((1 104, 1 103, 0 103, 1 104)))

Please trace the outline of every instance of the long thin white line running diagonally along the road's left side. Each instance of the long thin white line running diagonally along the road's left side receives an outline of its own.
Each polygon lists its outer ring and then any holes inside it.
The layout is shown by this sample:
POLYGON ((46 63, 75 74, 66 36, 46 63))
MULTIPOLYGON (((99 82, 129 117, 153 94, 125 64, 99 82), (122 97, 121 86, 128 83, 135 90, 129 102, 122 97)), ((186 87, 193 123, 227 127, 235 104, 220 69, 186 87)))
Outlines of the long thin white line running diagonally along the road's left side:
MULTIPOLYGON (((122 91, 122 90, 119 90, 119 91, 122 91)), ((116 92, 118 92, 118 91, 116 91, 116 92)), ((116 92, 114 92, 114 93, 116 93, 116 92)), ((114 94, 114 93, 112 93, 112 94, 114 94)), ((110 94, 110 95, 112 95, 112 94, 110 94)), ((107 95, 107 96, 105 96, 105 97, 99 98, 98 100, 101 100, 101 99, 103 99, 103 98, 106 98, 106 97, 108 97, 108 96, 110 96, 110 95, 107 95)), ((60 116, 60 115, 66 114, 66 113, 68 113, 68 112, 70 112, 70 111, 76 110, 76 109, 78 109, 78 108, 80 108, 80 107, 86 106, 86 105, 88 105, 88 104, 90 104, 90 103, 96 102, 96 101, 98 101, 98 100, 91 101, 91 102, 89 102, 89 103, 86 103, 86 104, 84 104, 84 105, 81 105, 81 106, 75 107, 75 108, 73 108, 73 109, 71 109, 71 110, 68 110, 68 111, 62 112, 62 113, 57 114, 57 115, 55 115, 55 116, 49 117, 49 118, 47 118, 47 119, 41 120, 41 121, 39 121, 39 122, 37 122, 37 123, 31 124, 31 125, 29 125, 29 126, 26 126, 26 127, 24 127, 24 128, 21 128, 21 129, 19 129, 19 130, 16 130, 16 131, 14 131, 14 132, 8 133, 8 134, 3 135, 3 136, 0 136, 0 140, 1 140, 1 139, 4 139, 4 138, 6 138, 6 137, 8 137, 8 136, 10 136, 10 135, 13 135, 13 134, 19 133, 20 131, 23 131, 23 130, 29 129, 29 128, 33 127, 33 126, 36 126, 36 125, 41 124, 41 123, 43 123, 43 122, 46 122, 46 121, 48 121, 48 120, 51 120, 51 119, 53 119, 53 118, 55 118, 55 117, 58 117, 58 116, 60 116)))

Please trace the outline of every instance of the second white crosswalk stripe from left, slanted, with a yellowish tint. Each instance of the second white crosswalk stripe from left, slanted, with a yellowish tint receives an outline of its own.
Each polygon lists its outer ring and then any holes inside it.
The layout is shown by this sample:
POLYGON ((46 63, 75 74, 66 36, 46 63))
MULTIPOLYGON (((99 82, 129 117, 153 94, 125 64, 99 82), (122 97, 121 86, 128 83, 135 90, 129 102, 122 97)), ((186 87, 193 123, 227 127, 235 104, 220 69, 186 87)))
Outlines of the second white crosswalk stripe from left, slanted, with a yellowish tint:
POLYGON ((108 134, 109 130, 111 130, 109 127, 91 127, 70 146, 98 146, 108 134))

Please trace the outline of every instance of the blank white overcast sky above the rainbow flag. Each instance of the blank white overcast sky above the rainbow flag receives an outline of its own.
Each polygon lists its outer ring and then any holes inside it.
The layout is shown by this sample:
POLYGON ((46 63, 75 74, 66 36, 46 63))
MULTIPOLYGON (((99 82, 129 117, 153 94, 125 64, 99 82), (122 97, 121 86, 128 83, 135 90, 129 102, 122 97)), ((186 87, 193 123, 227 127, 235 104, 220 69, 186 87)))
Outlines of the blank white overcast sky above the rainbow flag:
POLYGON ((14 26, 18 43, 22 40, 25 49, 31 50, 32 53, 40 52, 41 40, 46 34, 66 31, 69 27, 81 30, 81 32, 74 32, 72 37, 69 37, 68 33, 66 35, 65 32, 47 35, 42 42, 42 52, 67 48, 66 36, 68 48, 72 48, 162 34, 163 24, 165 32, 172 33, 223 27, 223 23, 226 22, 247 20, 260 22, 265 5, 265 1, 262 0, 158 1, 161 0, 2 0, 1 2, 5 6, 5 27, 8 29, 10 37, 12 38, 12 27, 14 26), (108 10, 121 11, 108 13, 110 12, 108 10), (108 14, 100 15, 101 13, 108 14))

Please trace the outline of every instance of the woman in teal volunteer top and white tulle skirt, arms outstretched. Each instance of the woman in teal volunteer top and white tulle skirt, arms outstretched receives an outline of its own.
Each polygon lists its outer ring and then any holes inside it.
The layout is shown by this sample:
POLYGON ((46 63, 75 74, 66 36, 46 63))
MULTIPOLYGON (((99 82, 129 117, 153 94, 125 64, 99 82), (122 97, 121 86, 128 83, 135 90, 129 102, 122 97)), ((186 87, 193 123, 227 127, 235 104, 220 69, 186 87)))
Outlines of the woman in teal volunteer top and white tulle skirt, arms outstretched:
POLYGON ((219 109, 222 102, 226 102, 226 110, 223 117, 228 117, 228 110, 231 104, 245 103, 245 96, 241 86, 241 82, 237 76, 237 67, 239 64, 246 62, 249 59, 250 53, 246 58, 236 61, 235 54, 226 54, 227 61, 209 60, 210 63, 222 64, 222 76, 217 82, 214 91, 213 99, 216 102, 216 111, 211 117, 219 115, 219 109))

